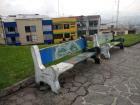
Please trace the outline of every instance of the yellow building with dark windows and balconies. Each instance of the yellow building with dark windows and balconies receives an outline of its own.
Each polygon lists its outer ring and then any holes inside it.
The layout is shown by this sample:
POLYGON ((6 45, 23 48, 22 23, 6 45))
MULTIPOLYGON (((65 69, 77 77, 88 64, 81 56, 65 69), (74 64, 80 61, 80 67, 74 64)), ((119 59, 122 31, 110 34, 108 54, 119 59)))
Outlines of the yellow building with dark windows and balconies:
POLYGON ((53 18, 52 21, 54 43, 62 43, 77 38, 76 17, 53 18))

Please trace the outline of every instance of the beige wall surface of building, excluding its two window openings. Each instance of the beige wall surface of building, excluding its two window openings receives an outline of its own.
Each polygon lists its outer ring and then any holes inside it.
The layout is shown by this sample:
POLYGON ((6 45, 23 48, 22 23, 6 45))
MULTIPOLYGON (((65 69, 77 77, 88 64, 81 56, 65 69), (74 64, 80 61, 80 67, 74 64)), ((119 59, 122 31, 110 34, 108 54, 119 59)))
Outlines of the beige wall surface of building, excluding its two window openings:
POLYGON ((20 34, 19 40, 21 44, 38 44, 44 43, 42 20, 41 19, 17 19, 17 29, 20 34), (25 26, 36 26, 36 32, 26 32, 25 26), (27 35, 36 35, 37 41, 28 42, 27 35))

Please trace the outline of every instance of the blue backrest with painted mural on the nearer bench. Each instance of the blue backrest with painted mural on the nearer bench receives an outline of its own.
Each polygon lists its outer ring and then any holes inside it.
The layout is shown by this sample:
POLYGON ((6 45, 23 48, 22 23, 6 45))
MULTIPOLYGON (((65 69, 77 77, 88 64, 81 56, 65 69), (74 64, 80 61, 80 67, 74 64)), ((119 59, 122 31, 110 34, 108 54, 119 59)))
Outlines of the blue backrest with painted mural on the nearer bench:
POLYGON ((40 49, 40 56, 43 64, 48 64, 57 59, 63 58, 86 48, 86 40, 79 38, 74 41, 65 42, 48 48, 40 49))

